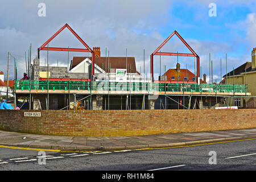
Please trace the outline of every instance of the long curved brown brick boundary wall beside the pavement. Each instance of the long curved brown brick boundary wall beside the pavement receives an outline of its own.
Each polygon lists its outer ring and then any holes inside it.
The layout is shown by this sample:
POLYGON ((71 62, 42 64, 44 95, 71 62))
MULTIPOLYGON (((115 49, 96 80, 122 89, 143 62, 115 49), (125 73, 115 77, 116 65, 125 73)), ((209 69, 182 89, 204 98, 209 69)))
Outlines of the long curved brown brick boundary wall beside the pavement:
POLYGON ((0 110, 0 130, 67 136, 129 136, 256 127, 256 109, 80 110, 76 113, 42 110, 41 115, 24 117, 24 110, 0 110))

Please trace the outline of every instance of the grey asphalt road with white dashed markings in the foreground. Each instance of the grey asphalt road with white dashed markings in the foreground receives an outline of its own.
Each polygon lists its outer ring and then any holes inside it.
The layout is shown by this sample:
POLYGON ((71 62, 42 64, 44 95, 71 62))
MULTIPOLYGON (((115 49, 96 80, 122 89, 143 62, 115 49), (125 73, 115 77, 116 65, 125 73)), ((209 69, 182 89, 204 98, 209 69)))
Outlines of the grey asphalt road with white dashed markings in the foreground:
MULTIPOLYGON (((38 151, 0 148, 2 170, 256 170, 256 140, 202 144, 156 150, 111 152, 46 151, 46 164, 38 164, 38 151), (216 164, 209 164, 210 151, 216 164)), ((214 161, 214 160, 210 160, 214 161)))

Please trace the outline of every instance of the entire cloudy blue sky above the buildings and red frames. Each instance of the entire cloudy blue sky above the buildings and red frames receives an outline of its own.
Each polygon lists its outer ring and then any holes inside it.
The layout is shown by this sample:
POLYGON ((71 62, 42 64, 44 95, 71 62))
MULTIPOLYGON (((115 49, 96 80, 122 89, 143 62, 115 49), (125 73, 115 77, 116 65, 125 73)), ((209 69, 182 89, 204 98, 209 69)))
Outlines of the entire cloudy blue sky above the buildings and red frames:
MULTIPOLYGON (((32 45, 32 60, 36 50, 65 23, 90 48, 106 49, 109 56, 135 57, 137 71, 150 73, 150 55, 175 30, 200 56, 202 75, 209 80, 209 53, 213 61, 213 78, 220 81, 227 70, 232 71, 251 61, 256 47, 256 0, 2 0, 0 7, 0 71, 7 75, 7 56, 10 56, 10 78, 14 78, 14 57, 18 78, 26 72, 25 52, 32 45), (42 11, 40 3, 46 9, 42 11), (212 3, 216 5, 213 9, 212 3), (213 11, 216 10, 216 11, 213 11), (45 16, 40 13, 45 12, 45 16), (216 16, 213 13, 216 13, 216 16), (40 15, 40 16, 39 16, 40 15), (145 50, 145 71, 143 70, 145 50), (222 64, 221 64, 222 63, 222 64), (221 68, 221 69, 220 69, 221 68), (222 72, 221 72, 221 71, 222 72)), ((66 28, 49 43, 49 47, 84 48, 66 28)), ((164 45, 162 52, 191 53, 175 35, 164 45)), ((49 65, 67 67, 73 56, 88 53, 49 51, 49 65)), ((46 62, 47 51, 40 52, 40 64, 46 62)), ((193 57, 161 56, 161 74, 176 68, 194 72, 193 57)), ((160 73, 160 56, 154 56, 154 73, 160 73)))

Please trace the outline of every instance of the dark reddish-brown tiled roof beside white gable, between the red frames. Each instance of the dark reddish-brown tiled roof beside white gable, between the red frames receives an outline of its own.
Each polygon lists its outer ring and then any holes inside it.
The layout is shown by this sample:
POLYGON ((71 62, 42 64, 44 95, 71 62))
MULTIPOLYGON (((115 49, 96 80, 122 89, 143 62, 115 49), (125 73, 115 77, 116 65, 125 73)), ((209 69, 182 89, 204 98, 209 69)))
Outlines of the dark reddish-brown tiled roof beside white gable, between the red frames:
MULTIPOLYGON (((75 68, 76 65, 81 63, 86 58, 88 58, 88 57, 73 57, 71 69, 75 68)), ((92 60, 92 57, 89 57, 89 59, 92 60)), ((95 56, 94 62, 101 69, 103 69, 103 67, 104 67, 104 70, 106 70, 105 68, 110 68, 110 64, 111 64, 111 68, 126 69, 126 57, 98 57, 98 56, 95 56), (106 65, 106 60, 107 60, 107 65, 106 65)), ((127 57, 127 64, 129 65, 129 69, 130 69, 130 65, 131 65, 131 71, 128 70, 129 73, 130 72, 137 73, 135 57, 127 57)), ((108 73, 109 69, 107 69, 106 72, 108 73)))

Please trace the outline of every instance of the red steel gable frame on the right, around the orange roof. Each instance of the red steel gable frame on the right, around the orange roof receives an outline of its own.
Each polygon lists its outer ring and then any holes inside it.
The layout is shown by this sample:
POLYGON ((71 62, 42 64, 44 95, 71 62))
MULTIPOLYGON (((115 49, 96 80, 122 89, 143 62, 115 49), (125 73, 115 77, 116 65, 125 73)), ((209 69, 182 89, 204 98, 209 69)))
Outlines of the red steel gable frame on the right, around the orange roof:
POLYGON ((180 36, 180 34, 175 30, 174 32, 172 32, 172 34, 166 39, 164 40, 164 42, 150 55, 150 72, 151 72, 151 79, 153 78, 153 73, 154 73, 154 67, 153 67, 153 56, 154 55, 162 55, 162 56, 191 56, 191 57, 196 57, 196 65, 197 65, 197 74, 196 74, 196 82, 198 83, 198 78, 199 78, 199 74, 200 74, 200 59, 199 56, 196 54, 195 51, 193 51, 193 49, 188 45, 187 42, 185 42, 185 40, 180 36), (192 53, 173 53, 173 52, 158 52, 160 48, 162 48, 164 46, 164 44, 166 44, 168 42, 168 40, 170 40, 172 38, 172 36, 177 35, 177 37, 185 44, 185 46, 192 52, 192 53))

